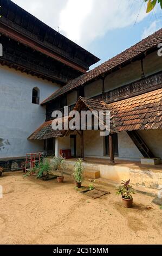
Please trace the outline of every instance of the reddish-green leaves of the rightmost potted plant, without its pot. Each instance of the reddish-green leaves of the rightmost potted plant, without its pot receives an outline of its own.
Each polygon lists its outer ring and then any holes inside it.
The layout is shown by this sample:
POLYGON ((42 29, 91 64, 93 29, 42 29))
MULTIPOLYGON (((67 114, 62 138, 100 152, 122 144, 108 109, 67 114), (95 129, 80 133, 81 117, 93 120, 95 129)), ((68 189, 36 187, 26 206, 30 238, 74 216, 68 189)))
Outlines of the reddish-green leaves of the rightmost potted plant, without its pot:
POLYGON ((134 194, 133 187, 129 185, 130 180, 124 181, 122 180, 118 190, 116 191, 116 194, 119 196, 121 195, 122 198, 124 199, 133 199, 132 194, 134 194))

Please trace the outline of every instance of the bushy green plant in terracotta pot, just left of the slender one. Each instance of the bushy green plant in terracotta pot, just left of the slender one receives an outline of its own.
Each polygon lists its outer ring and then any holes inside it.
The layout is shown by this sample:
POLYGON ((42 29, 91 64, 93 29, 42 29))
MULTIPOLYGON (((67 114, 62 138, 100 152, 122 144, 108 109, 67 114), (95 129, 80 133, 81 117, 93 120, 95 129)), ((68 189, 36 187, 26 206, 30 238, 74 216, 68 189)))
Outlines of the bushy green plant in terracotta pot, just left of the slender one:
POLYGON ((60 176, 57 176, 57 182, 62 183, 64 180, 63 172, 65 169, 65 158, 63 157, 63 155, 59 157, 55 156, 53 158, 52 163, 53 163, 54 169, 55 170, 57 169, 60 172, 60 176))

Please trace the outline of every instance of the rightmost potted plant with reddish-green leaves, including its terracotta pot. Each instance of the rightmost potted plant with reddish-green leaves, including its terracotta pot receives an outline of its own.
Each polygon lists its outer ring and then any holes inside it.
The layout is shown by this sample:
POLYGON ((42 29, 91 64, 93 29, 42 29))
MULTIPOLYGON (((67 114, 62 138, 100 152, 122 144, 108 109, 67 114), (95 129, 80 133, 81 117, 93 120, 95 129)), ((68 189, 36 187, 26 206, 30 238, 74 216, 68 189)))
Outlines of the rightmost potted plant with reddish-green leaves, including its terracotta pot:
POLYGON ((121 195, 122 203, 126 208, 131 208, 133 204, 132 194, 134 194, 134 190, 133 187, 129 185, 129 182, 130 180, 122 180, 122 186, 120 186, 116 192, 116 194, 121 195))

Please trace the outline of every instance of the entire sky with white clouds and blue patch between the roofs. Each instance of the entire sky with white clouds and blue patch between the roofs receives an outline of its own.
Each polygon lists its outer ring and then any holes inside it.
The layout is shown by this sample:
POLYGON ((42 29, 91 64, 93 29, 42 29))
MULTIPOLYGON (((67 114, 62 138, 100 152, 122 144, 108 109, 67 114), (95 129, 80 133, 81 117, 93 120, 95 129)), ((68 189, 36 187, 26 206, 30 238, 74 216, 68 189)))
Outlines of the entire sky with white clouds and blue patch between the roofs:
POLYGON ((12 0, 105 62, 162 27, 144 0, 12 0), (58 28, 59 27, 59 28, 58 28))

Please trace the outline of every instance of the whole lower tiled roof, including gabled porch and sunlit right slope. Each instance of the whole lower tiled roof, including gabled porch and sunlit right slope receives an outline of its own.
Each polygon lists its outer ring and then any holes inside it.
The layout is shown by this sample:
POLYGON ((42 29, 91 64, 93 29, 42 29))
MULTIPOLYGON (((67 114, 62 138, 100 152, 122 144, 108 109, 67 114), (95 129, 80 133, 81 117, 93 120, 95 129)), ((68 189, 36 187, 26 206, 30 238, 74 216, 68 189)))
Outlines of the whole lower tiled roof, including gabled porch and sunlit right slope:
MULTIPOLYGON (((130 99, 106 104, 103 101, 80 97, 74 110, 111 111, 111 132, 162 129, 162 89, 154 90, 130 99), (83 108, 82 108, 83 107, 83 108)), ((64 121, 68 119, 65 117, 64 121)), ((45 139, 65 135, 65 131, 54 131, 52 121, 41 125, 28 139, 45 139)))

